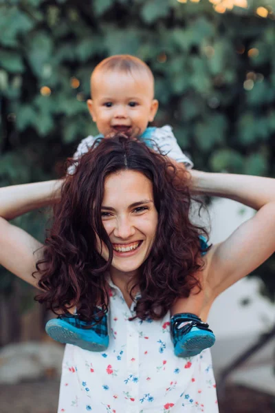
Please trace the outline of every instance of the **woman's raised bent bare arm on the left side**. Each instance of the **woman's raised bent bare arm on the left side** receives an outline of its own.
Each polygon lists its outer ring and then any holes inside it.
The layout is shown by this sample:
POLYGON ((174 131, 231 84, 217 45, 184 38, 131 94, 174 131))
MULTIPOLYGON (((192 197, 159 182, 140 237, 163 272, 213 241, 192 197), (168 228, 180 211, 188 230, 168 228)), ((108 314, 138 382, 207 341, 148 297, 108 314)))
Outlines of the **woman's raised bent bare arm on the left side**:
POLYGON ((43 255, 43 244, 8 222, 37 208, 58 202, 62 181, 47 181, 0 188, 0 265, 37 286, 32 277, 43 255))

